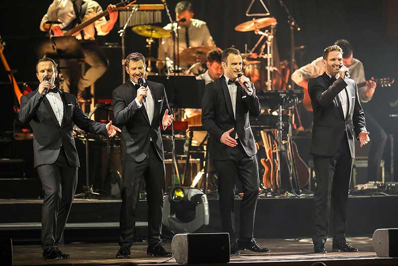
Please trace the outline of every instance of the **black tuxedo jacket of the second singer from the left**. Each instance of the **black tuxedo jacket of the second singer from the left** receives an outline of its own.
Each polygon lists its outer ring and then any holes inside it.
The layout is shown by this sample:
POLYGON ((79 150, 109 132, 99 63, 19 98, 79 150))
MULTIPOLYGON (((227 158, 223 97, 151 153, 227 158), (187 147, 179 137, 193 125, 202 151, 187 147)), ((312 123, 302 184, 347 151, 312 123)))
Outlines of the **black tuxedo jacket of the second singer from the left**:
POLYGON ((152 123, 142 105, 138 108, 135 90, 131 80, 126 81, 112 92, 113 114, 115 123, 122 127, 121 152, 122 160, 140 162, 149 154, 150 138, 155 144, 161 160, 164 160, 163 142, 160 125, 166 109, 170 110, 165 87, 156 82, 146 80, 154 98, 154 115, 152 123))

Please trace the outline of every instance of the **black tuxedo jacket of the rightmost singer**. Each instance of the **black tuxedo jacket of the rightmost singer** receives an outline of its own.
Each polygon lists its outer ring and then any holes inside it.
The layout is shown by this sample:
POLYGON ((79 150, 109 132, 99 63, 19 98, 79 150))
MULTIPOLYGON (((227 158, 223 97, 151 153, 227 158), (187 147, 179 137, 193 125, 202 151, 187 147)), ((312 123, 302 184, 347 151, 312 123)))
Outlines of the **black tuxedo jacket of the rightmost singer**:
POLYGON ((311 153, 334 156, 344 134, 347 134, 351 157, 355 158, 354 136, 358 138, 360 132, 366 131, 365 114, 359 103, 356 82, 349 78, 338 78, 330 85, 330 78, 325 72, 309 82, 308 92, 313 109, 311 153), (345 119, 337 97, 342 90, 346 90, 348 97, 345 119))

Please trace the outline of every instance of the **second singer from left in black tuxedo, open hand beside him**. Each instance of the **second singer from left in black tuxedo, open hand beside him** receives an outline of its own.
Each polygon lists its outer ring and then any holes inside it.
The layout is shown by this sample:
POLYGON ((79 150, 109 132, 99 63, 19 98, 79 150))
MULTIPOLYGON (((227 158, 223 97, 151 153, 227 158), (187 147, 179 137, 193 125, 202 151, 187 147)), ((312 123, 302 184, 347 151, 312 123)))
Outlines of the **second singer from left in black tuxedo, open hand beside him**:
POLYGON ((115 123, 123 128, 121 155, 123 166, 120 209, 120 249, 116 258, 129 258, 133 244, 139 184, 145 179, 148 202, 147 254, 171 256, 161 245, 165 164, 160 125, 173 122, 162 84, 145 81, 145 58, 131 53, 125 59, 130 79, 113 90, 115 123))

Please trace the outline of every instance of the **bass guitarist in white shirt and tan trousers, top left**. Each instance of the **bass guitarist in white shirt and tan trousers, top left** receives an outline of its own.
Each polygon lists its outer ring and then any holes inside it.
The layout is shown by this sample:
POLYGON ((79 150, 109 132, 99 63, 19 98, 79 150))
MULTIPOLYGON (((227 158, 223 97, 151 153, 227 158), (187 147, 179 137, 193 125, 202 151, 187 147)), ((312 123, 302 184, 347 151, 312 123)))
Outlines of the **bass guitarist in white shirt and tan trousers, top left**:
MULTIPOLYGON (((79 73, 72 71, 76 68, 69 67, 62 70, 65 78, 64 91, 69 92, 77 86, 77 99, 79 102, 86 102, 84 99, 85 88, 91 86, 99 79, 108 67, 108 60, 105 54, 98 43, 93 42, 96 30, 97 35, 106 35, 117 21, 118 10, 116 5, 109 4, 106 9, 109 12, 109 20, 102 16, 74 35, 79 40, 92 40, 91 42, 81 42, 85 54, 85 62, 91 67, 79 81, 74 79, 79 73)), ((72 29, 100 13, 102 13, 102 7, 94 0, 54 0, 48 7, 47 13, 41 19, 40 30, 49 31, 50 25, 52 25, 53 34, 55 36, 63 36, 63 30, 72 29), (61 23, 48 24, 46 23, 47 21, 60 21, 61 23)))

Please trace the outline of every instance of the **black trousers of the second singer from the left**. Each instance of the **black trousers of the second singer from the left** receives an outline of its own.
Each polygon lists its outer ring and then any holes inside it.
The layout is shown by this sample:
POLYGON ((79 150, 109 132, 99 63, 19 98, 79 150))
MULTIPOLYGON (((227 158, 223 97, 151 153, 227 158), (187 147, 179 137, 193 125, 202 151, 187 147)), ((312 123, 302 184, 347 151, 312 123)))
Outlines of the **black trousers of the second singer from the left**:
POLYGON ((119 246, 133 244, 139 186, 145 180, 148 203, 148 244, 161 241, 165 164, 151 141, 149 156, 141 162, 123 161, 119 246))

